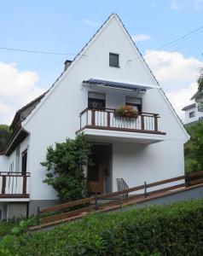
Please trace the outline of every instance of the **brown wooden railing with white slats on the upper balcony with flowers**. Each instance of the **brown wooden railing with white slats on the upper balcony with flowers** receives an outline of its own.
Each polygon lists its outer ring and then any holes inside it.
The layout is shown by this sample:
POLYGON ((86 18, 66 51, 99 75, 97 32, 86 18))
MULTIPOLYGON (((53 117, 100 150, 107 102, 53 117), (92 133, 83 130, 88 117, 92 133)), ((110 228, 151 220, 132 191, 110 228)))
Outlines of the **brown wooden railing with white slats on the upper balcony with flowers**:
POLYGON ((86 108, 80 113, 80 130, 84 128, 134 131, 143 133, 155 133, 165 135, 159 131, 158 113, 138 113, 137 118, 119 117, 115 115, 115 109, 90 109, 86 108))

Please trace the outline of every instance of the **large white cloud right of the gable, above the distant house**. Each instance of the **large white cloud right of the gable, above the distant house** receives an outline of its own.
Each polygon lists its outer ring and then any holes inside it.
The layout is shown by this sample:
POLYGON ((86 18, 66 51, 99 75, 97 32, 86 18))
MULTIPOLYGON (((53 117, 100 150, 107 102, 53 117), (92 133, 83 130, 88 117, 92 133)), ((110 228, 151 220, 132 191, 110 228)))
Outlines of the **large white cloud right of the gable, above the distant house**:
POLYGON ((172 106, 183 118, 181 109, 190 104, 197 90, 196 80, 203 62, 186 58, 181 53, 164 50, 147 50, 145 59, 158 79, 172 106))

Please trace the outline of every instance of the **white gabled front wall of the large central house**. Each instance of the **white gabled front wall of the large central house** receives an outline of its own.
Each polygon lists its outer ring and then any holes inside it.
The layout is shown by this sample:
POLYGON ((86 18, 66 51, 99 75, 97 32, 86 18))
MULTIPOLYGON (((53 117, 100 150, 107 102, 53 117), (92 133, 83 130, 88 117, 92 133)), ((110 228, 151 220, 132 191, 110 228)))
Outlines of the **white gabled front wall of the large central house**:
MULTIPOLYGON (((113 191, 117 190, 118 177, 124 178, 132 187, 144 181, 183 175, 183 144, 188 141, 188 134, 118 16, 111 15, 21 124, 29 133, 29 137, 20 143, 20 155, 28 148, 30 201, 57 199, 54 189, 43 183, 45 170, 40 162, 44 161, 49 145, 64 142, 66 137, 75 137, 80 129, 79 113, 88 107, 88 93, 92 91, 105 94, 106 108, 125 105, 127 96, 141 97, 142 112, 159 113, 159 131, 166 133, 84 129, 89 141, 112 145, 113 191), (119 54, 119 67, 109 67, 109 53, 119 54), (84 86, 83 81, 90 78, 142 84, 151 89, 137 94, 131 90, 84 86)), ((0 169, 8 170, 7 162, 12 161, 16 168, 16 150, 9 157, 2 156, 4 160, 0 158, 0 169)))

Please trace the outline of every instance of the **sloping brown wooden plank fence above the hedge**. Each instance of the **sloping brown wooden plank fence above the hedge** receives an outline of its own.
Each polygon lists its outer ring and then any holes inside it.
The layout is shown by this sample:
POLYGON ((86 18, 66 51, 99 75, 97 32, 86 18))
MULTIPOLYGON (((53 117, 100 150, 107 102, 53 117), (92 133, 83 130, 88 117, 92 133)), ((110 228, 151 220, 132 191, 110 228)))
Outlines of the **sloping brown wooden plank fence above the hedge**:
POLYGON ((72 211, 69 211, 69 212, 63 212, 63 213, 59 213, 59 214, 56 214, 56 215, 51 216, 51 217, 43 218, 42 222, 47 223, 48 221, 55 220, 55 219, 72 217, 72 216, 77 215, 81 212, 91 212, 93 210, 99 209, 100 207, 107 207, 107 206, 111 206, 113 204, 115 205, 115 204, 119 204, 119 203, 124 203, 125 201, 131 201, 133 199, 136 199, 137 195, 131 195, 129 197, 123 197, 123 198, 118 198, 118 196, 119 195, 126 195, 126 194, 129 194, 131 192, 136 192, 138 190, 144 189, 144 194, 141 194, 141 195, 144 195, 145 197, 147 197, 148 195, 154 195, 154 194, 158 194, 158 193, 161 193, 161 192, 171 191, 171 190, 175 190, 175 189, 181 189, 183 187, 188 187, 188 186, 200 184, 200 183, 203 183, 203 178, 200 177, 200 176, 203 176, 203 171, 192 172, 192 173, 188 173, 186 175, 182 175, 182 176, 178 176, 178 177, 172 177, 172 178, 168 178, 168 179, 165 179, 165 180, 160 180, 160 181, 154 182, 154 183, 148 183, 147 184, 145 182, 143 185, 136 186, 136 187, 133 187, 133 188, 130 188, 130 189, 123 189, 121 191, 116 191, 116 192, 112 192, 112 193, 108 193, 108 194, 96 195, 95 197, 88 197, 88 198, 84 198, 84 199, 81 199, 81 200, 78 200, 78 201, 70 201, 70 202, 60 204, 60 205, 57 205, 57 206, 44 208, 41 211, 39 211, 39 208, 38 208, 38 224, 39 224, 39 221, 40 221, 40 214, 41 213, 57 212, 57 211, 60 211, 60 210, 69 209, 71 207, 81 206, 81 205, 84 205, 84 204, 89 204, 90 205, 91 203, 95 202, 95 207, 94 207, 94 205, 93 206, 92 205, 85 206, 85 207, 77 209, 77 210, 72 210, 72 211), (194 180, 193 179, 194 177, 200 177, 200 178, 194 180), (179 181, 179 180, 182 180, 182 179, 184 180, 183 183, 178 183, 176 185, 170 185, 168 187, 165 187, 165 188, 162 188, 162 189, 156 189, 156 190, 153 190, 153 191, 150 191, 150 192, 147 193, 148 188, 157 187, 159 185, 163 185, 163 184, 166 184, 166 183, 173 183, 173 182, 176 182, 176 181, 179 181), (98 204, 98 201, 107 200, 107 199, 110 200, 111 198, 113 199, 113 201, 98 204))

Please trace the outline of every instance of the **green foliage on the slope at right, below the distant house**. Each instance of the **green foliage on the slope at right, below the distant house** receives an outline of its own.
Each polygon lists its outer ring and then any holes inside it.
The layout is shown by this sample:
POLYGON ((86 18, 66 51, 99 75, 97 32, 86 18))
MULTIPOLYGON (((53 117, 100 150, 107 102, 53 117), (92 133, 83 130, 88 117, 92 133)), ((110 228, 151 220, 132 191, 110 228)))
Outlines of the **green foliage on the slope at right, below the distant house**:
POLYGON ((190 140, 185 144, 185 172, 203 170, 203 122, 186 126, 190 140))

